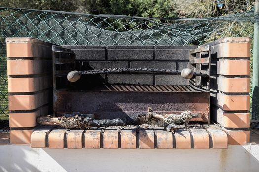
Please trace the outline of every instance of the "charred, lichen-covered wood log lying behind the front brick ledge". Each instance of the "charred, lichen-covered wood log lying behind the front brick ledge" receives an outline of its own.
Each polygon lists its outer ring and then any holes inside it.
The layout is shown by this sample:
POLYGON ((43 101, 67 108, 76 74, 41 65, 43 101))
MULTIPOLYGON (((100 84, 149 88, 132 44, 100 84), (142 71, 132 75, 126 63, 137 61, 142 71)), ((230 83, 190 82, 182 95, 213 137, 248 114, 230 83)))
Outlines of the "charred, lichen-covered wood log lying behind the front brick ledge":
POLYGON ((53 117, 39 116, 37 123, 40 125, 60 126, 66 129, 87 129, 91 127, 110 127, 125 125, 157 124, 160 127, 172 131, 173 128, 184 128, 192 118, 191 111, 184 111, 181 114, 160 115, 152 112, 148 108, 148 113, 144 116, 124 119, 92 119, 84 116, 75 115, 73 117, 53 117), (178 125, 185 123, 185 125, 178 125))

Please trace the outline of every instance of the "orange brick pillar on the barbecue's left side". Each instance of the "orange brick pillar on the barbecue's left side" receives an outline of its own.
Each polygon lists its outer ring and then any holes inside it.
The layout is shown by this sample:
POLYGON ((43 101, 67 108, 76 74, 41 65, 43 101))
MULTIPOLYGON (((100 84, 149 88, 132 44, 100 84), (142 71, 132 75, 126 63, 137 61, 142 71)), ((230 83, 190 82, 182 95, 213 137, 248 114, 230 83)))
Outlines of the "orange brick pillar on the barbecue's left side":
POLYGON ((6 38, 6 46, 10 142, 30 144, 36 118, 51 113, 52 44, 6 38))

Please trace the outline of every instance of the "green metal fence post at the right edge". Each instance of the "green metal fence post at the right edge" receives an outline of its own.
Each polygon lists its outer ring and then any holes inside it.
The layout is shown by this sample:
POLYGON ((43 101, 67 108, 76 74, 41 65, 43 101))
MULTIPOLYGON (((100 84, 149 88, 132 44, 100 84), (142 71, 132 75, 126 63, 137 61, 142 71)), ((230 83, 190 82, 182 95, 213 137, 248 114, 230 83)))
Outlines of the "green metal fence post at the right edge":
POLYGON ((254 14, 252 120, 259 120, 259 0, 255 1, 254 14))

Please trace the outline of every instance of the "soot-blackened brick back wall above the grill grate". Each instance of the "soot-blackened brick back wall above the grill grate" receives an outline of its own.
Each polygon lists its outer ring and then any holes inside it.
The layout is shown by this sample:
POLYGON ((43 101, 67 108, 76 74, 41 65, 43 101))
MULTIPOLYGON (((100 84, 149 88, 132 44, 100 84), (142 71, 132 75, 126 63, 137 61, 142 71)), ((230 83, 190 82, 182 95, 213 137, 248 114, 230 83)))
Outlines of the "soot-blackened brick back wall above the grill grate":
MULTIPOLYGON (((189 49, 196 46, 64 46, 76 54, 76 70, 101 68, 159 68, 182 70, 189 63, 189 49)), ((188 85, 179 75, 83 76, 87 84, 188 85)))

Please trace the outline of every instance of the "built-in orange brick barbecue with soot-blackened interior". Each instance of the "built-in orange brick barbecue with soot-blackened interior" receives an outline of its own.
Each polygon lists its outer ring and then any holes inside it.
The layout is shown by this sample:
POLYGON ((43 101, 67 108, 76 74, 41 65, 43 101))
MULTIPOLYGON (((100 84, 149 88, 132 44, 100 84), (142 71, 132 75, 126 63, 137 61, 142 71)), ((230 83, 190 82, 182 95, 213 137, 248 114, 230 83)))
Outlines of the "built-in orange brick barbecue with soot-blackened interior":
POLYGON ((6 43, 12 144, 208 149, 249 142, 249 38, 199 47, 58 46, 33 38, 6 43), (136 71, 112 73, 114 68, 136 71), (194 71, 191 79, 181 77, 185 68, 194 71), (84 75, 96 69, 108 73, 84 75), (71 71, 80 71, 78 81, 68 81, 71 71), (146 115, 148 107, 162 115, 189 110, 196 127, 172 133, 161 127, 81 130, 37 124, 37 117, 46 115, 133 119, 146 115))

